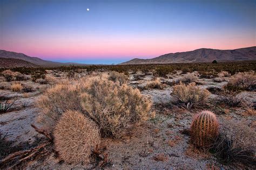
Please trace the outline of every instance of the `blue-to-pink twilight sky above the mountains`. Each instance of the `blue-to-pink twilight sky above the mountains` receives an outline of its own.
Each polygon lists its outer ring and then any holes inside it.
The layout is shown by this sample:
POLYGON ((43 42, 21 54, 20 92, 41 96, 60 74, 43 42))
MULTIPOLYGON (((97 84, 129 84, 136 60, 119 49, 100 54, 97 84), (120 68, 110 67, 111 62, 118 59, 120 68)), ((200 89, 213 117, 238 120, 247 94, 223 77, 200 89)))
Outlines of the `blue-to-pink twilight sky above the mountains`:
POLYGON ((256 1, 0 0, 0 49, 112 64, 256 46, 256 1), (87 10, 89 9, 89 10, 87 10))

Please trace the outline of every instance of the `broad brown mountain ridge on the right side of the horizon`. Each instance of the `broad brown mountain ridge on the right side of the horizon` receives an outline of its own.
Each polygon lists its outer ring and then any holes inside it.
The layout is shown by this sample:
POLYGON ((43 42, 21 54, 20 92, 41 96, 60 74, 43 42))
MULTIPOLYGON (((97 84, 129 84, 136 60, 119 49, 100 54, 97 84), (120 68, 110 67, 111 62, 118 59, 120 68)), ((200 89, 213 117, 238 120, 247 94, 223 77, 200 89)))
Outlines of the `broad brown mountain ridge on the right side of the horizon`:
POLYGON ((194 51, 177 52, 160 55, 153 59, 132 59, 120 65, 136 65, 150 63, 190 63, 217 61, 256 60, 256 46, 238 49, 200 48, 194 51))

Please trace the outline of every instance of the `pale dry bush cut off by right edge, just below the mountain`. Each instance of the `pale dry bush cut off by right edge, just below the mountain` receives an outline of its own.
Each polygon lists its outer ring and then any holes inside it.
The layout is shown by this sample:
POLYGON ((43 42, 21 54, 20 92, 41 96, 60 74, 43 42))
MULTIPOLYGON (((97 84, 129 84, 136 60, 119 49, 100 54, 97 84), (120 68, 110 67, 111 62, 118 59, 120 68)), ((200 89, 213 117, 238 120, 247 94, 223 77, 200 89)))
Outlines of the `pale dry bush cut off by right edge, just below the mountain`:
POLYGON ((254 91, 256 89, 256 75, 254 71, 235 74, 230 78, 228 86, 254 91))

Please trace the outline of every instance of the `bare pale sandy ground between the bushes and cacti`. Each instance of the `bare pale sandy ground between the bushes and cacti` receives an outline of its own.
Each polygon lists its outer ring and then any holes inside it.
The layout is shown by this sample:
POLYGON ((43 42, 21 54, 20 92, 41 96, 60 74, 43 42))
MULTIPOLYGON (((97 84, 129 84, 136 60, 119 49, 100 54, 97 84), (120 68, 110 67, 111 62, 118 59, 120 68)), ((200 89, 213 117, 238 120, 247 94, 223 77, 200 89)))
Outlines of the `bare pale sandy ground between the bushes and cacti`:
MULTIPOLYGON (((132 81, 131 86, 145 86, 146 82, 152 79, 152 75, 147 75, 143 80, 132 81)), ((176 78, 178 79, 177 76, 176 78)), ((228 80, 228 78, 226 78, 228 80)), ((227 81, 216 83, 211 79, 199 79, 201 88, 224 86, 227 81)), ((26 82, 24 82, 26 83, 26 82)), ((30 82, 31 83, 31 82, 30 82)), ((37 84, 36 86, 39 86, 37 84)), ((151 96, 154 104, 170 103, 173 101, 172 87, 167 86, 163 90, 150 89, 143 90, 143 95, 151 96)), ((1 94, 10 93, 8 90, 0 90, 1 94)), ((30 124, 36 124, 36 117, 39 111, 36 107, 36 100, 42 93, 36 90, 33 93, 11 93, 10 96, 17 98, 17 103, 29 102, 28 107, 7 112, 0 115, 0 132, 6 134, 8 140, 15 143, 28 142, 32 144, 37 138, 43 137, 37 133, 30 124)), ((248 92, 248 100, 256 103, 255 92, 248 92)), ((214 95, 211 95, 214 97, 214 95)), ((225 167, 221 165, 210 154, 193 153, 188 143, 189 137, 182 134, 181 131, 190 127, 192 117, 198 110, 185 110, 177 108, 175 105, 157 109, 154 119, 137 125, 136 129, 131 130, 130 134, 122 139, 104 139, 102 145, 106 146, 105 153, 109 155, 109 164, 106 169, 205 169, 214 167, 225 167), (161 156, 159 160, 158 157, 161 156)), ((220 123, 223 123, 227 117, 233 119, 246 119, 249 124, 255 122, 255 117, 244 117, 237 114, 238 111, 230 110, 228 115, 217 115, 220 123)), ((46 157, 44 160, 31 161, 26 168, 51 168, 51 169, 71 169, 71 168, 97 168, 95 163, 89 165, 68 165, 53 156, 46 157)))

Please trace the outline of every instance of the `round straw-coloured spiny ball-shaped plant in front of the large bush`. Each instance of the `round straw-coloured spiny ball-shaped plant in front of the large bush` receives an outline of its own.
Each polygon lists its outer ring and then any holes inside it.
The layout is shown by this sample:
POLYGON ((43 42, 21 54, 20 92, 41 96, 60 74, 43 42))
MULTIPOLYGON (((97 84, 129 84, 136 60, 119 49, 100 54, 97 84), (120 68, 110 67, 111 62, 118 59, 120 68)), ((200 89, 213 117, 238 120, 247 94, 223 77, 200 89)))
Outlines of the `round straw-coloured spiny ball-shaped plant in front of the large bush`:
POLYGON ((78 111, 64 112, 53 135, 56 151, 69 164, 87 162, 100 143, 97 125, 78 111))

